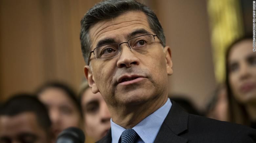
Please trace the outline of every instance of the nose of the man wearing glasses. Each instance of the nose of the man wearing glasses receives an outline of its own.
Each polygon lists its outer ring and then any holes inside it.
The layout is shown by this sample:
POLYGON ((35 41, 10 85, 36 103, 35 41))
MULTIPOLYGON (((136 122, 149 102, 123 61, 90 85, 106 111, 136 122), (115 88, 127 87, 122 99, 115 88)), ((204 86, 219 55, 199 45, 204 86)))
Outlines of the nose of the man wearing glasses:
POLYGON ((118 68, 130 68, 132 65, 139 65, 139 59, 135 56, 134 51, 130 49, 128 43, 123 44, 122 47, 120 47, 120 49, 121 55, 119 56, 119 59, 117 61, 118 68))

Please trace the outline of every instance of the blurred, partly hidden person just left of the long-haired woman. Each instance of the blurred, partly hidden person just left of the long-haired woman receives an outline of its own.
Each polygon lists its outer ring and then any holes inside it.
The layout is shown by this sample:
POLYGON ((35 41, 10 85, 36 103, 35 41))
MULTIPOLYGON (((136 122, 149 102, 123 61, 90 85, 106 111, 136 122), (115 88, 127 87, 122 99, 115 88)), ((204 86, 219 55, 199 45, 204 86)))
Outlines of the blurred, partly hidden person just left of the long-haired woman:
POLYGON ((225 85, 219 85, 215 90, 212 99, 207 105, 205 116, 221 121, 229 121, 228 99, 225 85))

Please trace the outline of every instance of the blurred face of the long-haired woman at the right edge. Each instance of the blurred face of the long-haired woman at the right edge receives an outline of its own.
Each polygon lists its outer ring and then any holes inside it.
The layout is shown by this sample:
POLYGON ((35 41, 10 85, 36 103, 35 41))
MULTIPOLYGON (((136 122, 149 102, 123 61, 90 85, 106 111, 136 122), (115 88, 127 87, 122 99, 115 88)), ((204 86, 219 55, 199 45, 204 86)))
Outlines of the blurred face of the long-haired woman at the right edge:
POLYGON ((256 52, 252 51, 252 40, 243 40, 233 46, 228 66, 235 98, 241 103, 256 103, 256 52))

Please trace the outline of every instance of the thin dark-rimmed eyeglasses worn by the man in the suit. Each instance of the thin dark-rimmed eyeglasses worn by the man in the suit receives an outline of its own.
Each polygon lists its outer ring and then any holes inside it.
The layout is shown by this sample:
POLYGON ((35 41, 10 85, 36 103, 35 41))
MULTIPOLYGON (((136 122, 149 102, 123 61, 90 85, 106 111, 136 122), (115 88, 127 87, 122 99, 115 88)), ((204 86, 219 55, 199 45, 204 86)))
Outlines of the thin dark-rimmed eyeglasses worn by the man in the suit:
POLYGON ((134 37, 127 42, 122 42, 120 44, 112 43, 96 47, 93 51, 90 52, 88 65, 90 63, 90 57, 92 53, 94 53, 96 59, 109 59, 118 56, 119 53, 121 53, 120 45, 123 43, 128 43, 129 48, 134 51, 145 50, 155 42, 155 36, 157 35, 146 34, 134 37))

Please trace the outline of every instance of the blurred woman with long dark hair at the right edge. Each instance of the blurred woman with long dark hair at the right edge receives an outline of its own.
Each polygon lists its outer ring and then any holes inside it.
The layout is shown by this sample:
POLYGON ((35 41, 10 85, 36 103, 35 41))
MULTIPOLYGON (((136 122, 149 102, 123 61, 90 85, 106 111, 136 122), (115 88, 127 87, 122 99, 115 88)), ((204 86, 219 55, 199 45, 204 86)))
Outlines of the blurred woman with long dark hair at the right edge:
POLYGON ((229 120, 256 128, 256 52, 252 36, 234 41, 226 53, 229 120))

